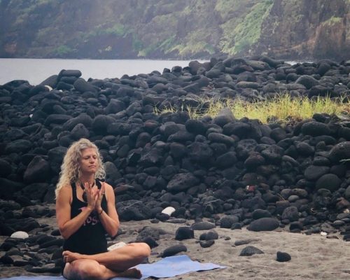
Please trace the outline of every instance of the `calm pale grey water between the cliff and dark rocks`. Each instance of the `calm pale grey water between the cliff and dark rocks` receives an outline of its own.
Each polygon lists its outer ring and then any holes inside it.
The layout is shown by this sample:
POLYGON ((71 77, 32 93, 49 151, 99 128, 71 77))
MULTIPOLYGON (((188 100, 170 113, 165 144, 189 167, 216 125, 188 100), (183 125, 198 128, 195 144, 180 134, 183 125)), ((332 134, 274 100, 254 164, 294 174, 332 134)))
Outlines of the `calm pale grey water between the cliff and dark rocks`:
MULTIPOLYGON (((188 66, 190 60, 146 60, 146 59, 12 59, 0 58, 0 85, 10 80, 28 80, 31 85, 58 74, 62 69, 80 70, 82 78, 120 78, 139 73, 162 73, 173 66, 188 66)), ((203 62, 203 61, 200 61, 203 62)))

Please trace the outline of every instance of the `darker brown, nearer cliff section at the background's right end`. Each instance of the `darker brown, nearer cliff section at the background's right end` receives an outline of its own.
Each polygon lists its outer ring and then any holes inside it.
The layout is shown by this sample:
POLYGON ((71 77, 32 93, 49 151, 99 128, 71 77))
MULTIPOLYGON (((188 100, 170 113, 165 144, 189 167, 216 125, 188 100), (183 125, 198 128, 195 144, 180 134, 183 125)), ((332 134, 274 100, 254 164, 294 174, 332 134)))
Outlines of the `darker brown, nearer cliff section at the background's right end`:
POLYGON ((350 1, 276 0, 262 24, 255 54, 349 58, 350 1))

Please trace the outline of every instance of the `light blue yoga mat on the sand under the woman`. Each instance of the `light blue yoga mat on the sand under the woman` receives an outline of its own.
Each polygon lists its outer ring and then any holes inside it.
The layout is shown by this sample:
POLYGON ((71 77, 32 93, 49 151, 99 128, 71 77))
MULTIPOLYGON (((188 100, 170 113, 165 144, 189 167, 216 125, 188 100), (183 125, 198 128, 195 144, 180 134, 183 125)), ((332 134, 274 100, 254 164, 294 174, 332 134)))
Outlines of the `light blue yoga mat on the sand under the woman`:
MULTIPOLYGON (((150 264, 137 265, 137 268, 141 270, 142 278, 148 277, 154 278, 167 278, 174 277, 188 272, 197 272, 203 270, 211 270, 216 268, 225 268, 221 265, 215 265, 214 263, 200 263, 191 260, 188 255, 175 255, 172 257, 163 258, 158 262, 150 264)), ((218 277, 220 278, 220 277, 218 277)), ((10 278, 4 278, 7 280, 64 280, 62 276, 16 276, 10 278)), ((113 280, 130 280, 130 278, 116 277, 113 280)))

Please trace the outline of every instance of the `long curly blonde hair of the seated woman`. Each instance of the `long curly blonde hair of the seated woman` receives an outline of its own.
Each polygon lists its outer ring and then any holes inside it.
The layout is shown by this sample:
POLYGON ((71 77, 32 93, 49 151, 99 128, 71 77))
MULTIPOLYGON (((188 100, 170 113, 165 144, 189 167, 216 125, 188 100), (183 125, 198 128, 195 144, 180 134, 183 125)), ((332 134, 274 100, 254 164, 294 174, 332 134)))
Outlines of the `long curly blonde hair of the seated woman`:
POLYGON ((56 198, 59 194, 59 190, 63 186, 69 186, 72 182, 78 181, 80 177, 80 165, 79 160, 81 158, 81 151, 85 148, 94 148, 97 153, 97 159, 99 162, 99 168, 94 174, 95 179, 104 179, 106 177, 106 172, 104 170, 104 164, 102 162, 102 156, 99 153, 99 149, 90 140, 82 138, 69 146, 64 155, 64 159, 61 165, 61 172, 59 173, 59 181, 56 186, 55 195, 56 198))

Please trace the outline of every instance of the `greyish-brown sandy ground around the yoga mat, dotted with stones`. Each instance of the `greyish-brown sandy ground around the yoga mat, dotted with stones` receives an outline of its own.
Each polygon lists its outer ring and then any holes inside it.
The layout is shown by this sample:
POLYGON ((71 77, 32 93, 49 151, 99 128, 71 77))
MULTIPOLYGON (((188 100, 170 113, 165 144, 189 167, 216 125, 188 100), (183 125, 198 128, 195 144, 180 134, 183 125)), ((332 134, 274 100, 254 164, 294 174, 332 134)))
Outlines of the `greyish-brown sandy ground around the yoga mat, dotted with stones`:
MULTIPOLYGON (((55 218, 38 218, 41 224, 57 228, 55 218)), ((202 248, 200 235, 206 230, 195 230, 194 239, 177 241, 176 229, 189 226, 193 221, 174 224, 167 222, 151 223, 151 221, 123 222, 120 226, 122 234, 113 242, 131 242, 137 238, 144 227, 160 231, 159 246, 153 248, 149 262, 160 260, 160 254, 170 246, 183 244, 187 247, 186 254, 199 262, 214 262, 226 266, 225 269, 214 269, 207 272, 193 272, 169 279, 349 279, 350 247, 342 236, 337 234, 322 236, 320 234, 305 235, 290 233, 279 228, 272 232, 251 232, 215 228, 218 239, 209 248, 202 248), (235 242, 246 241, 236 246, 235 242), (246 246, 260 249, 262 254, 239 256, 246 246), (286 252, 291 256, 288 262, 277 262, 276 252, 286 252)), ((35 230, 37 231, 37 230, 35 230)), ((36 234, 36 232, 31 232, 36 234)), ((1 243, 5 237, 1 237, 1 243)), ((1 252, 3 255, 4 252, 1 252)), ((183 254, 183 253, 179 253, 183 254)), ((1 277, 19 275, 39 275, 26 272, 22 267, 1 267, 1 277)), ((52 274, 51 274, 52 275, 52 274)))

